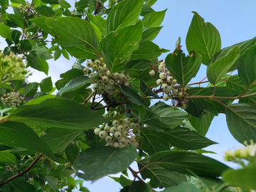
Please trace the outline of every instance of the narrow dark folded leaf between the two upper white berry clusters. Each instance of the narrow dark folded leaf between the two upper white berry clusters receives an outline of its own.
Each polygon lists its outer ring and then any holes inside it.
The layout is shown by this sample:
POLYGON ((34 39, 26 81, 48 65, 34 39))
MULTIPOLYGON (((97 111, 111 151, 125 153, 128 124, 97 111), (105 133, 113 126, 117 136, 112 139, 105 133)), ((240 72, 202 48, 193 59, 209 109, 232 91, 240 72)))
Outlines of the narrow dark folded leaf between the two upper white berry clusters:
POLYGON ((145 102, 145 100, 142 99, 141 96, 137 94, 134 90, 132 90, 130 87, 127 87, 125 85, 121 85, 122 93, 124 95, 127 95, 129 97, 129 100, 131 100, 136 105, 143 105, 144 107, 149 107, 148 104, 145 102))

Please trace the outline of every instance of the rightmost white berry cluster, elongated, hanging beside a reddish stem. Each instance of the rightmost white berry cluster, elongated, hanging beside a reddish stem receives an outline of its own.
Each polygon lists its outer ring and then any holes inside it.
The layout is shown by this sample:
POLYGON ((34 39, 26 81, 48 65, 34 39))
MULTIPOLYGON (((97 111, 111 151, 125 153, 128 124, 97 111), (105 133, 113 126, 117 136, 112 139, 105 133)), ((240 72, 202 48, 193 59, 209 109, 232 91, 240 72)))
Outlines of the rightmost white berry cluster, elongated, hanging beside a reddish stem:
POLYGON ((168 101, 172 99, 174 106, 186 109, 188 100, 182 99, 186 94, 186 87, 183 90, 181 86, 177 85, 177 80, 171 75, 163 61, 157 69, 153 65, 151 65, 151 68, 152 70, 149 71, 149 75, 154 76, 156 71, 159 72, 159 79, 156 80, 156 85, 160 85, 164 92, 163 100, 168 101))

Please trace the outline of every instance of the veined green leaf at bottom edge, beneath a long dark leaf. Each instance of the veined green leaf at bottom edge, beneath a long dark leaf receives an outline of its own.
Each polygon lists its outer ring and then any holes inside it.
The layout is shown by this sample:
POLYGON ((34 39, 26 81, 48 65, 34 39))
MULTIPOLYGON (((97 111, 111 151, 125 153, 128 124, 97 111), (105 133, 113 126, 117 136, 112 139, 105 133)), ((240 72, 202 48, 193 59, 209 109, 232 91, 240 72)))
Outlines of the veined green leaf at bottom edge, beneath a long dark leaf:
MULTIPOLYGON (((142 167, 149 164, 149 158, 137 161, 137 164, 139 169, 142 169, 142 167)), ((140 174, 142 175, 143 179, 150 178, 149 186, 152 188, 176 186, 178 183, 187 180, 184 174, 169 171, 161 166, 158 166, 157 164, 146 166, 146 168, 140 174)))

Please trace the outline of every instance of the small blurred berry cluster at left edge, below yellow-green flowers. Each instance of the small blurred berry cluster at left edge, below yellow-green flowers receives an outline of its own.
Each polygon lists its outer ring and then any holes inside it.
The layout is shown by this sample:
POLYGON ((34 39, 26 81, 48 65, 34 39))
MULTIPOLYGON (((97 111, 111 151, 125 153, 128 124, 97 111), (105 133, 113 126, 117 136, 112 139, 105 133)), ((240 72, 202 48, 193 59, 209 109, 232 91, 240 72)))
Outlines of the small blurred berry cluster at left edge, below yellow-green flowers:
POLYGON ((7 107, 18 107, 21 105, 21 102, 23 102, 24 97, 18 97, 19 93, 18 92, 10 92, 10 93, 5 93, 1 97, 1 102, 6 105, 7 107))

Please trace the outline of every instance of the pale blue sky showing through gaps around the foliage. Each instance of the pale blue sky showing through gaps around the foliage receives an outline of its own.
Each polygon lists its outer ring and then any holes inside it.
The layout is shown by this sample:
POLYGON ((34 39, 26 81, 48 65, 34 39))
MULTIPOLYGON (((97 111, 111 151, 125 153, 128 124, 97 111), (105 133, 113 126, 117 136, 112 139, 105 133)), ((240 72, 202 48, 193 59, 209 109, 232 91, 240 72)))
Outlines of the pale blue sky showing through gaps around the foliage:
MULTIPOLYGON (((71 6, 75 1, 68 1, 71 6)), ((175 49, 175 43, 177 38, 181 37, 182 50, 187 54, 186 50, 186 33, 190 26, 191 20, 193 18, 193 13, 191 11, 196 11, 201 17, 205 19, 205 22, 210 22, 218 29, 221 37, 221 48, 227 46, 232 46, 235 43, 240 43, 241 41, 246 41, 255 37, 256 34, 256 14, 255 14, 256 1, 206 1, 206 0, 159 0, 152 6, 155 11, 163 11, 167 9, 166 16, 164 18, 161 26, 164 26, 159 36, 154 40, 160 48, 166 48, 171 50, 175 49)), ((0 38, 0 49, 6 46, 6 42, 3 38, 0 38)), ((171 53, 169 52, 169 53, 171 53)), ((159 60, 166 58, 169 53, 164 53, 159 57, 159 60)), ((70 70, 75 58, 70 58, 66 60, 61 57, 54 61, 48 60, 49 73, 48 76, 52 77, 53 82, 60 79, 60 73, 65 73, 65 71, 70 70)), ((38 72, 31 69, 33 75, 28 79, 30 82, 41 82, 43 78, 47 76, 44 73, 38 72)), ((198 75, 193 78, 191 82, 198 82, 206 77, 206 66, 201 65, 198 75)), ((206 134, 208 139, 218 142, 218 144, 208 146, 206 150, 214 151, 217 154, 209 154, 208 156, 218 161, 222 161, 229 166, 235 167, 235 164, 229 164, 223 161, 224 151, 228 149, 236 149, 241 146, 230 134, 227 123, 225 121, 225 115, 219 114, 218 117, 213 119, 212 124, 208 134, 206 134)), ((132 164, 134 169, 137 169, 136 164, 132 164)), ((131 177, 132 179, 132 177, 131 177)), ((122 186, 119 183, 105 176, 104 178, 91 183, 90 181, 85 181, 84 186, 86 186, 91 192, 115 192, 119 191, 122 186)))

